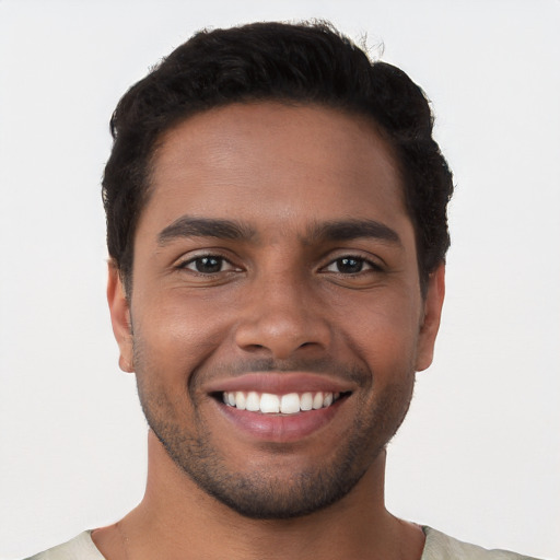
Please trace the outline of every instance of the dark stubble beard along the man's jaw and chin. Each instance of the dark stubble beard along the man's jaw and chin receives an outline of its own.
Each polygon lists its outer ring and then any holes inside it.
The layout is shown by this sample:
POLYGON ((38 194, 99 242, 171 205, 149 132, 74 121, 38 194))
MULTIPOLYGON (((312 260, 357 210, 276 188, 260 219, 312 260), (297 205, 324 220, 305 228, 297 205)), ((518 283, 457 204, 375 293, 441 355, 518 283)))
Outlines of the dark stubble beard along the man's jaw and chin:
MULTIPOLYGON (((212 444, 198 412, 198 431, 188 430, 177 418, 163 387, 147 382, 149 377, 158 380, 159 376, 154 371, 148 377, 144 375, 141 353, 135 358, 138 394, 151 430, 175 465, 202 491, 254 520, 301 517, 328 508, 347 495, 405 419, 415 378, 411 372, 404 382, 385 386, 377 396, 377 405, 368 413, 355 416, 348 436, 340 441, 330 462, 317 462, 313 468, 301 471, 292 470, 287 479, 275 472, 273 462, 267 471, 238 472, 229 467, 226 457, 212 444)), ((185 389, 187 397, 188 390, 185 389)))

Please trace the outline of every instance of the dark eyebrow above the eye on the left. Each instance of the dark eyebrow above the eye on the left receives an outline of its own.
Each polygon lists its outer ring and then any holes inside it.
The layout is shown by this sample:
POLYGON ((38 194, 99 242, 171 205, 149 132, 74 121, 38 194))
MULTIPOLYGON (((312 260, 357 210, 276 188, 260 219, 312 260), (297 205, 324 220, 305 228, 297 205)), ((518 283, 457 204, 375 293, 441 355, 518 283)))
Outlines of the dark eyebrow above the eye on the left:
POLYGON ((165 245, 179 237, 249 240, 254 236, 255 231, 253 229, 234 220, 183 215, 160 232, 158 244, 165 245))

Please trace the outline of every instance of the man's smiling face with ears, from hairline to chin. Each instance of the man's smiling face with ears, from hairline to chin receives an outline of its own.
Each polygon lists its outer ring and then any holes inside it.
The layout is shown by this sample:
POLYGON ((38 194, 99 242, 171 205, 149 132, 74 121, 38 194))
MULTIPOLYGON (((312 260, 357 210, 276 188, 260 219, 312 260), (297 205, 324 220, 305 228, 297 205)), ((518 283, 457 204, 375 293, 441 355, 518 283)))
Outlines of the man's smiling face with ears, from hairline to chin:
POLYGON ((230 105, 168 131, 109 304, 151 429, 202 490, 260 518, 342 499, 431 361, 443 272, 422 299, 389 147, 316 106, 230 105))

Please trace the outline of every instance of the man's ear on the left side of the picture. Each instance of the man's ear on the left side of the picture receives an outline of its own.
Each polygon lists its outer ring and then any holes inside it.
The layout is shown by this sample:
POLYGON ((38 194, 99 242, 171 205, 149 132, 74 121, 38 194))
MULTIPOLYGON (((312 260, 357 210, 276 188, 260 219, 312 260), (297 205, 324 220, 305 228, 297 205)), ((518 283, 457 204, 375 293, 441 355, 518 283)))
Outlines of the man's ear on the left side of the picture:
POLYGON ((135 371, 132 353, 132 327, 130 323, 130 306, 119 270, 113 260, 108 264, 107 301, 109 304, 113 334, 120 350, 118 365, 124 372, 135 371))

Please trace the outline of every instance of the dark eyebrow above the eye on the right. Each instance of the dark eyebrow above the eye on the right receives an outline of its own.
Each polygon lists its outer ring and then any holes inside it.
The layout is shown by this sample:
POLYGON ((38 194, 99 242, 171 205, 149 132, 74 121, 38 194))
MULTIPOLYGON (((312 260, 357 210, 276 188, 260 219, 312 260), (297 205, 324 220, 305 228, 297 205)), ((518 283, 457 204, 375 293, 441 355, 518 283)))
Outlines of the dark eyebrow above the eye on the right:
POLYGON ((395 245, 402 245, 398 233, 375 220, 340 220, 323 222, 307 232, 310 241, 351 241, 360 237, 374 237, 395 245))

